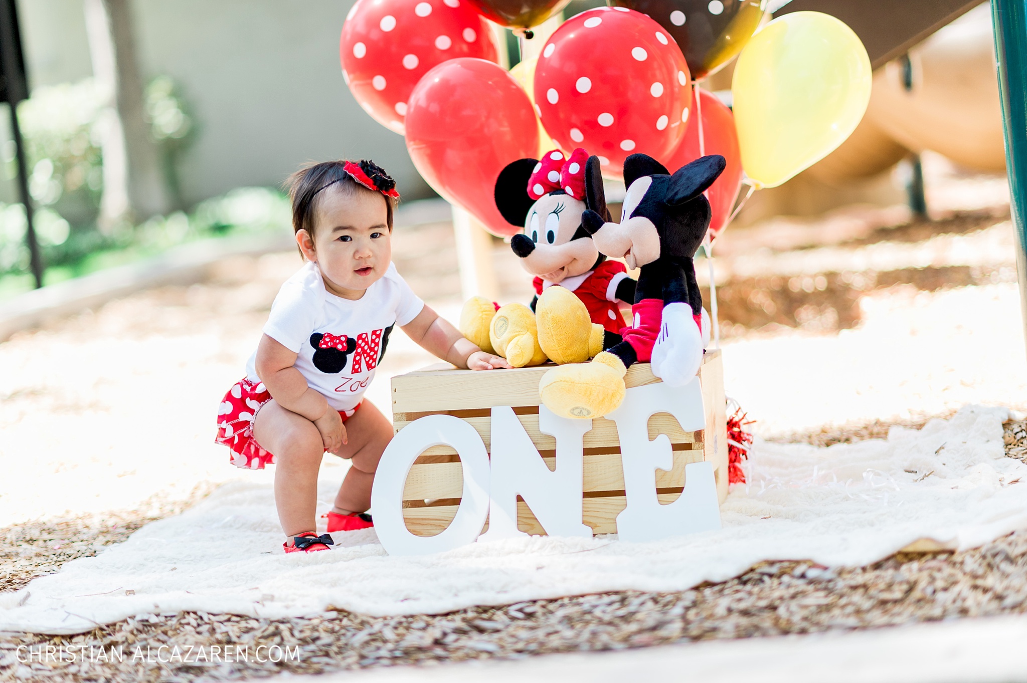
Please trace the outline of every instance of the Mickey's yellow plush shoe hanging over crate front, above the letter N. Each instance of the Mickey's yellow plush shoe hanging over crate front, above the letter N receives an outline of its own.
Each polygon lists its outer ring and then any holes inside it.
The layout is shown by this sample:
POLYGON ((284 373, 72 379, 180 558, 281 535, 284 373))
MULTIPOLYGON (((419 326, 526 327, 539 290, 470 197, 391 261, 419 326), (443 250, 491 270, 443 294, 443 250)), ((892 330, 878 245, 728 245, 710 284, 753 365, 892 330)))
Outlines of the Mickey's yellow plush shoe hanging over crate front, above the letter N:
POLYGON ((602 417, 624 400, 624 373, 619 358, 602 352, 591 363, 555 367, 542 375, 538 395, 561 417, 602 417))

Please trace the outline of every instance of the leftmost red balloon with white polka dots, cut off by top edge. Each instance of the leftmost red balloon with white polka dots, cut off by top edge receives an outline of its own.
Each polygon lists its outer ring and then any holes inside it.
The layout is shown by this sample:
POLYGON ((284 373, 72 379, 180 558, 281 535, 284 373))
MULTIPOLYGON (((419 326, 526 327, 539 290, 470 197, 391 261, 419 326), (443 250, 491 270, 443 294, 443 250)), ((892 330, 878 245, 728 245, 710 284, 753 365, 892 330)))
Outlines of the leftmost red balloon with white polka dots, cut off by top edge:
POLYGON ((498 61, 488 22, 467 0, 357 0, 342 27, 342 76, 371 117, 401 135, 407 99, 432 67, 498 61))

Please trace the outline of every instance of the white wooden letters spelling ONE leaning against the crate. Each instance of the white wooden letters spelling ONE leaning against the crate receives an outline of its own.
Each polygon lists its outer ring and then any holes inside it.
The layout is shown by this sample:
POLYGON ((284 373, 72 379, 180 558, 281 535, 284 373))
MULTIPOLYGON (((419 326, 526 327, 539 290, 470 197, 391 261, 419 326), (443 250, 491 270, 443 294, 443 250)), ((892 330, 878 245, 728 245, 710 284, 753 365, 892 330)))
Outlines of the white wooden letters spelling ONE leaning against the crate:
MULTIPOLYGON (((720 528, 713 465, 685 466, 685 488, 677 500, 660 505, 656 469, 670 470, 674 452, 667 435, 649 440, 649 417, 669 412, 685 431, 706 427, 698 377, 684 387, 659 383, 627 390, 624 402, 608 415, 617 425, 627 506, 617 516, 621 540, 644 541, 720 528)), ((427 555, 481 540, 527 535, 517 527, 517 496, 531 508, 546 533, 591 536, 582 523, 583 437, 591 419, 566 419, 539 406, 539 430, 557 440, 555 471, 524 430, 512 408, 492 408, 492 463, 474 428, 452 415, 428 415, 409 424, 382 453, 371 507, 375 530, 389 555, 427 555), (417 536, 403 519, 403 491, 417 456, 431 446, 456 449, 463 470, 463 493, 456 517, 445 531, 417 536)), ((709 436, 708 436, 709 438, 709 436)))

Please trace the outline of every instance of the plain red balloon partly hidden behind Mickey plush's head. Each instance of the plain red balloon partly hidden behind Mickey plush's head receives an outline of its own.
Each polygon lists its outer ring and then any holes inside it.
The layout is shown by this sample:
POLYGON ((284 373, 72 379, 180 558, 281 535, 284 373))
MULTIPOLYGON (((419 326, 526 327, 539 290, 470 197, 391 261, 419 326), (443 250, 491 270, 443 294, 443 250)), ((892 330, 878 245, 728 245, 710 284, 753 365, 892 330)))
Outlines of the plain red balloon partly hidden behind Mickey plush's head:
MULTIPOLYGON (((727 160, 727 167, 714 184, 707 190, 707 199, 713 209, 713 219, 710 222, 710 232, 714 237, 724 229, 734 207, 734 200, 741 188, 741 156, 738 153, 738 133, 734 129, 734 115, 717 95, 696 88, 700 97, 700 107, 695 106, 692 98, 692 112, 702 110, 703 151, 707 154, 719 154, 727 160)), ((685 164, 695 161, 699 154, 699 126, 695 121, 685 131, 685 139, 674 154, 660 159, 673 173, 685 164)))

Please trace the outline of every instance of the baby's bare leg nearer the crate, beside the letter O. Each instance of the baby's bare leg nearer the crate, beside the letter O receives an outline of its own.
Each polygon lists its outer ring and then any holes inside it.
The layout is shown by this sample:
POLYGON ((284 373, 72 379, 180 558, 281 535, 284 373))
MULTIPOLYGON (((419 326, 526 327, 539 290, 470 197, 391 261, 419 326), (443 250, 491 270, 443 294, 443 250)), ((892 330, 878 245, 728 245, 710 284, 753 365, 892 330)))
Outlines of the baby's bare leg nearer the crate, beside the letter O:
POLYGON ((385 446, 392 439, 392 424, 374 403, 365 399, 360 408, 346 420, 348 443, 339 451, 351 463, 346 478, 335 496, 334 512, 347 515, 371 507, 371 487, 375 470, 385 446))

